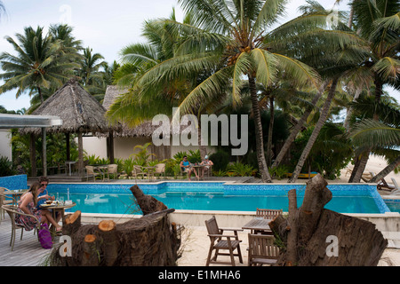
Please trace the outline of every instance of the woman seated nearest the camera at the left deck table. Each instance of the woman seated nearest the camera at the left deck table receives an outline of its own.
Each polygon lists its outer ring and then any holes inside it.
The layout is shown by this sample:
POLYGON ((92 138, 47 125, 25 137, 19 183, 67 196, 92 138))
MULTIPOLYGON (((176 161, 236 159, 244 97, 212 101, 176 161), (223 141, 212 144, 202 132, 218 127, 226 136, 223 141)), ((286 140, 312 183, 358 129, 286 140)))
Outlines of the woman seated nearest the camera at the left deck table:
MULTIPOLYGON (((38 182, 30 185, 27 193, 23 193, 18 201, 18 211, 21 213, 29 214, 35 216, 40 224, 47 223, 47 225, 52 224, 57 228, 57 232, 61 231, 61 226, 57 224, 52 218, 52 214, 46 209, 36 209, 37 205, 37 194, 40 188, 38 182), (50 224, 49 224, 50 223, 50 224)), ((36 227, 36 219, 30 216, 24 216, 20 214, 15 215, 15 223, 22 225, 25 230, 30 231, 36 227)))

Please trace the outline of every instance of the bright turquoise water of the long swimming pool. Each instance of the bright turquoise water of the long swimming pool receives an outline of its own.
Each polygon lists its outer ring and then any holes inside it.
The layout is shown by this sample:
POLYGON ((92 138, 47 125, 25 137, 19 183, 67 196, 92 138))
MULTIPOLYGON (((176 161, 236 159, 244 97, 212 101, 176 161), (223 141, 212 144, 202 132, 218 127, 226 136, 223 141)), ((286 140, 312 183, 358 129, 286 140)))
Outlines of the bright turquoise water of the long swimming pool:
MULTIPOLYGON (((76 202, 73 210, 84 213, 134 214, 133 184, 50 184, 49 193, 76 202)), ((256 208, 288 209, 287 193, 296 188, 300 207, 306 185, 229 184, 224 182, 160 182, 140 185, 143 193, 184 210, 255 211, 256 208)), ((373 185, 328 185, 332 201, 325 208, 340 213, 390 212, 373 185)))

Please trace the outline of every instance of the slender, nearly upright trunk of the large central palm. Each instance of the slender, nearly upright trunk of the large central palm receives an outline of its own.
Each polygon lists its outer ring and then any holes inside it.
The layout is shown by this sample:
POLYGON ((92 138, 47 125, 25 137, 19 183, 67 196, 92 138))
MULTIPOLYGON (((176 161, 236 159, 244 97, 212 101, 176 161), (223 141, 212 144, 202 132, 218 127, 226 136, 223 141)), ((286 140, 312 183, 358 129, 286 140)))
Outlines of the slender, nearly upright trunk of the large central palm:
POLYGON ((250 87, 250 96, 252 99, 252 116, 254 119, 254 127, 255 127, 257 162, 259 164, 261 180, 264 183, 265 182, 271 183, 272 178, 269 175, 267 162, 265 160, 265 154, 264 154, 264 139, 262 138, 262 124, 261 124, 261 115, 259 109, 259 99, 257 98, 255 79, 252 76, 249 76, 249 87, 250 87))

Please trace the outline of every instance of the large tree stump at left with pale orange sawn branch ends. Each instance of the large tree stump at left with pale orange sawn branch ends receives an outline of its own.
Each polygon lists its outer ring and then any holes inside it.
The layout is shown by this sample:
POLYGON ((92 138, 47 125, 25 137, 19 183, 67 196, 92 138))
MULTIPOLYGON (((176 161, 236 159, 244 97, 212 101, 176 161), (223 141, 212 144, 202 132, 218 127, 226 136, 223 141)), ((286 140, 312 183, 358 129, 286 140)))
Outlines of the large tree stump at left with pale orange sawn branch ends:
POLYGON ((140 197, 143 217, 132 218, 116 224, 103 220, 99 225, 81 225, 80 212, 68 215, 63 220, 63 233, 72 242, 72 256, 60 256, 59 247, 54 247, 51 265, 59 266, 133 266, 176 265, 180 240, 176 227, 169 222, 164 203, 148 198, 135 185, 132 193, 140 197), (158 210, 162 209, 162 210, 158 210))

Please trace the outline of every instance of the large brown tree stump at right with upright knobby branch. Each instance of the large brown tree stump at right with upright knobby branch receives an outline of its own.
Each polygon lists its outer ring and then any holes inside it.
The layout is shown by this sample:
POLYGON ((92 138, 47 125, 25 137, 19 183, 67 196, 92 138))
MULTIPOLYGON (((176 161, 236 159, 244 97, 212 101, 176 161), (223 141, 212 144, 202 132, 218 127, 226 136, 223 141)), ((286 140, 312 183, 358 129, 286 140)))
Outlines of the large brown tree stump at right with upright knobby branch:
POLYGON ((371 222, 324 209, 332 193, 321 175, 308 181, 302 205, 289 192, 289 217, 270 223, 284 248, 276 265, 377 265, 388 245, 371 222))

